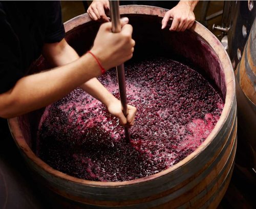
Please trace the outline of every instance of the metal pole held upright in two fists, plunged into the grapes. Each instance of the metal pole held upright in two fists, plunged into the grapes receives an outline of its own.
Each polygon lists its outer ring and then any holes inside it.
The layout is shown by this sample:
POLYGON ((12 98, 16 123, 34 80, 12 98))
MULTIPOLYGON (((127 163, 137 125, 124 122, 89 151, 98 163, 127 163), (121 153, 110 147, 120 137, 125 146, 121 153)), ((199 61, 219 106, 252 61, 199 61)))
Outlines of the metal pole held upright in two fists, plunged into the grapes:
MULTIPOLYGON (((110 1, 110 12, 111 12, 111 22, 112 22, 112 32, 121 32, 121 22, 119 14, 119 1, 110 1)), ((119 85, 120 100, 123 108, 123 114, 127 117, 127 97, 126 97, 126 87, 125 87, 125 76, 124 76, 124 65, 116 66, 117 80, 119 85)), ((130 142, 130 132, 127 127, 124 127, 124 134, 127 142, 130 142)))

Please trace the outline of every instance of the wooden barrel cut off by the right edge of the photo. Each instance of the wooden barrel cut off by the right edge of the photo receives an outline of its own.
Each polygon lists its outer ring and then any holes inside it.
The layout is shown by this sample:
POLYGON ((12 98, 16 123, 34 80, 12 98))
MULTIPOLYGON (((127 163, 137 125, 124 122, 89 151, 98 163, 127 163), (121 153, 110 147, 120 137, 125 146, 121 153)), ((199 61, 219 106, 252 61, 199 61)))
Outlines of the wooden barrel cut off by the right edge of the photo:
POLYGON ((237 162, 243 167, 253 168, 256 166, 256 18, 235 73, 241 144, 237 162))

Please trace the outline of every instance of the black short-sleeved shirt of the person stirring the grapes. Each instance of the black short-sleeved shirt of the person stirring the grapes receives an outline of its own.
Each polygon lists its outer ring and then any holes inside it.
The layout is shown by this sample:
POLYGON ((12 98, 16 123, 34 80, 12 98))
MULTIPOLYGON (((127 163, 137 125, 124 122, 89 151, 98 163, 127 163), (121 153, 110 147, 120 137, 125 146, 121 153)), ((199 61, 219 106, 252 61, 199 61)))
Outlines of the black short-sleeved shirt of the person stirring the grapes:
POLYGON ((0 94, 26 75, 44 43, 65 36, 60 2, 0 2, 0 94))

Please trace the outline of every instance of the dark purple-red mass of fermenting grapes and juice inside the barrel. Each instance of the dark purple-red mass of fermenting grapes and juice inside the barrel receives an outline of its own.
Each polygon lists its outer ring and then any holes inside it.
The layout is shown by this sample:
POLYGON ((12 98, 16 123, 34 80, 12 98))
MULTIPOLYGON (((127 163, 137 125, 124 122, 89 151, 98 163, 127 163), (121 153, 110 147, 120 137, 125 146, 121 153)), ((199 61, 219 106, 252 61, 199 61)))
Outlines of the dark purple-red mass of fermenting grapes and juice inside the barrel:
MULTIPOLYGON (((82 179, 124 181, 167 169, 209 135, 223 108, 217 90, 179 62, 155 58, 125 66, 127 101, 137 107, 131 142, 105 106, 81 89, 48 106, 37 155, 82 179)), ((115 70, 99 80, 119 98, 115 70)))

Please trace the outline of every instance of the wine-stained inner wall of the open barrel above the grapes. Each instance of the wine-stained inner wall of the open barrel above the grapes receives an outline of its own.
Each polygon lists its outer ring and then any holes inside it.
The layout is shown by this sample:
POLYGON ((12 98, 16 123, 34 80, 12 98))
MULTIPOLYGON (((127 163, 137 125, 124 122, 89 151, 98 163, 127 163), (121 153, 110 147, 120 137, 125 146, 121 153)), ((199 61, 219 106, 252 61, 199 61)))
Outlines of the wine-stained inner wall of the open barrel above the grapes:
MULTIPOLYGON (((223 102, 226 97, 226 83, 222 65, 217 54, 206 41, 193 30, 170 32, 161 30, 161 17, 146 14, 127 14, 133 26, 136 41, 133 60, 164 56, 196 69, 219 90, 223 102)), ((66 40, 79 55, 86 53, 93 45, 100 22, 89 21, 67 32, 66 40)), ((36 73, 49 66, 39 58, 30 69, 36 73)), ((29 147, 35 150, 37 128, 44 108, 18 117, 20 129, 29 147)))

